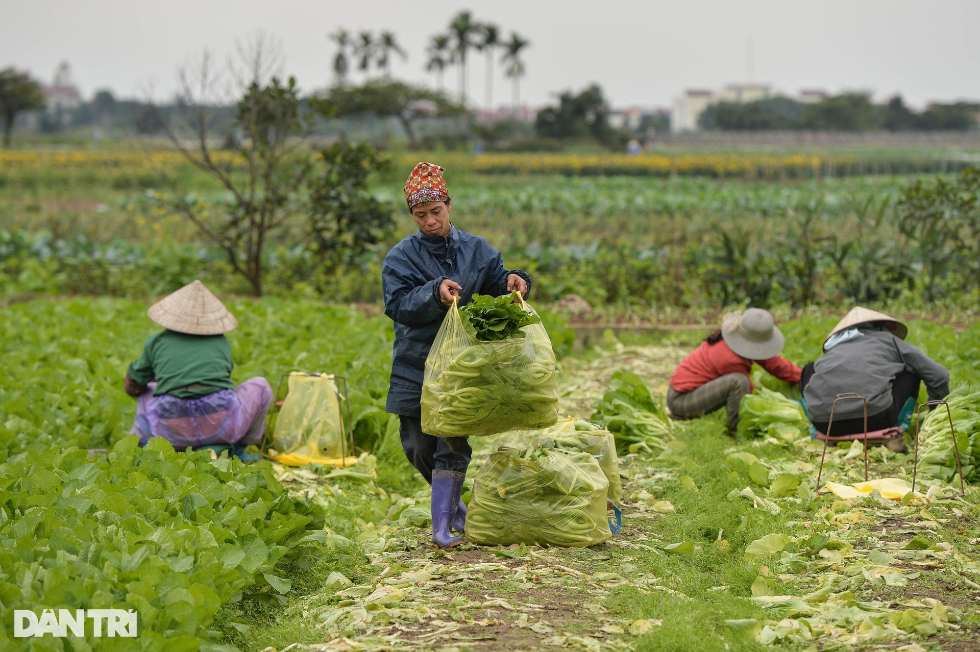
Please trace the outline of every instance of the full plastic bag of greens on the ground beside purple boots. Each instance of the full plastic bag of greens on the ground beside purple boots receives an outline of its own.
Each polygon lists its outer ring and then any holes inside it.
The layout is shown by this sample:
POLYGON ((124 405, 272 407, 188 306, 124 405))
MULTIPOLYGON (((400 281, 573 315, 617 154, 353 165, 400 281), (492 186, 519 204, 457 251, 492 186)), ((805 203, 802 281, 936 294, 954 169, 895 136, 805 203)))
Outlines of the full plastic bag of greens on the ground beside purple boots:
POLYGON ((609 482, 589 453, 547 445, 501 448, 476 478, 466 512, 466 538, 586 547, 610 536, 609 482))

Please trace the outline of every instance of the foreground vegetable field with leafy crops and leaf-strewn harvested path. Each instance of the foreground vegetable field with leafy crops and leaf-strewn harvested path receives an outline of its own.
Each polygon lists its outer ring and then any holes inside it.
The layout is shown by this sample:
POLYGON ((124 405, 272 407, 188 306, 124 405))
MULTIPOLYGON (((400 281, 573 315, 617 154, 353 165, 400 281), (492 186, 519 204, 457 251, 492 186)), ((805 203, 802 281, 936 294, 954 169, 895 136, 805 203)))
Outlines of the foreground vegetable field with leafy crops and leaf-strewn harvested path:
MULTIPOLYGON (((821 448, 808 437, 787 437, 777 425, 733 442, 721 414, 662 418, 666 379, 690 343, 630 345, 608 334, 571 349, 560 320, 545 313, 561 344, 560 413, 613 432, 622 531, 595 547, 435 550, 428 488, 383 413, 390 322, 303 300, 228 307, 240 323, 229 336, 235 381, 261 374, 274 387, 297 369, 346 375, 365 454, 346 469, 290 470, 161 442, 140 449, 126 436, 134 401, 122 377, 155 330, 146 303, 3 307, 3 649, 68 649, 51 638, 32 646, 14 639, 11 614, 23 605, 136 609, 138 638, 87 641, 112 650, 975 645, 980 492, 968 486, 965 498, 939 499, 954 480, 941 424, 924 426, 917 493, 820 494, 821 448), (109 452, 89 457, 90 448, 109 452)), ((834 321, 785 324, 786 354, 812 359, 834 321)), ((980 383, 980 327, 957 334, 913 321, 909 333, 952 370, 957 396, 980 383)), ((971 404, 954 412, 964 464, 980 450, 971 404)), ((467 486, 484 469, 495 477, 486 465, 505 438, 513 435, 473 440, 467 486)), ((863 480, 862 453, 859 444, 832 448, 824 478, 863 480)), ((910 451, 876 447, 868 457, 871 477, 910 480, 910 451)), ((593 482, 607 482, 603 474, 597 469, 593 482)))

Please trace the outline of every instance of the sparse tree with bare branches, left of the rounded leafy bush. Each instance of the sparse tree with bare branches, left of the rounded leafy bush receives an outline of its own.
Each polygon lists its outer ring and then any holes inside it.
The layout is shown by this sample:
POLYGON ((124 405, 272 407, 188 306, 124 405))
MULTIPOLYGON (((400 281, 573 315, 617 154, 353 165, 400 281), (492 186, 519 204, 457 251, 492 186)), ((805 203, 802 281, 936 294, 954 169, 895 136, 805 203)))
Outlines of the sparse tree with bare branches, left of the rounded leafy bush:
POLYGON ((204 202, 178 192, 171 179, 172 206, 221 247, 232 269, 261 296, 263 252, 290 214, 290 173, 307 164, 297 156, 294 138, 304 124, 295 79, 280 82, 274 76, 282 61, 276 44, 259 35, 239 44, 238 55, 237 65, 224 73, 215 70, 208 53, 181 70, 175 116, 163 121, 172 145, 217 179, 230 198, 204 202), (215 120, 235 87, 241 93, 235 106, 240 134, 236 156, 228 156, 214 149, 215 120))

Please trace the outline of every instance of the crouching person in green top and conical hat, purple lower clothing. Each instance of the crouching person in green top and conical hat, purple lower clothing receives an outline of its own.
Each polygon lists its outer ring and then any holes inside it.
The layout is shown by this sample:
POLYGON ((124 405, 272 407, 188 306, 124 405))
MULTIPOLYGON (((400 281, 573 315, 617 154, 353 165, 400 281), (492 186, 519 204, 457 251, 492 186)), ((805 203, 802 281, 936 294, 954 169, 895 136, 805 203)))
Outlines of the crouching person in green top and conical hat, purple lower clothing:
POLYGON ((154 303, 147 315, 165 329, 129 365, 125 392, 137 396, 131 434, 140 444, 163 437, 188 446, 240 449, 262 440, 272 389, 265 378, 231 382, 231 344, 238 321, 200 281, 154 303))

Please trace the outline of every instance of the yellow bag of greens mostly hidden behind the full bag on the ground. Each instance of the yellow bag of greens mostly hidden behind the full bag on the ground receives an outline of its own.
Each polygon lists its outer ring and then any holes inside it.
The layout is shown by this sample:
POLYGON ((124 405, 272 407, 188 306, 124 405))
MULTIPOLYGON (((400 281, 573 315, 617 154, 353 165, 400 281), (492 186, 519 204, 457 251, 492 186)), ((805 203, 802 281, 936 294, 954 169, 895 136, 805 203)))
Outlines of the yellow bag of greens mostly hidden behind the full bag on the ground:
POLYGON ((587 452, 599 462, 606 480, 609 481, 609 498, 616 505, 622 500, 622 480, 619 478, 619 456, 615 451, 613 433, 580 419, 565 419, 551 428, 534 431, 512 431, 500 435, 494 443, 514 448, 532 444, 555 442, 563 448, 587 452))

